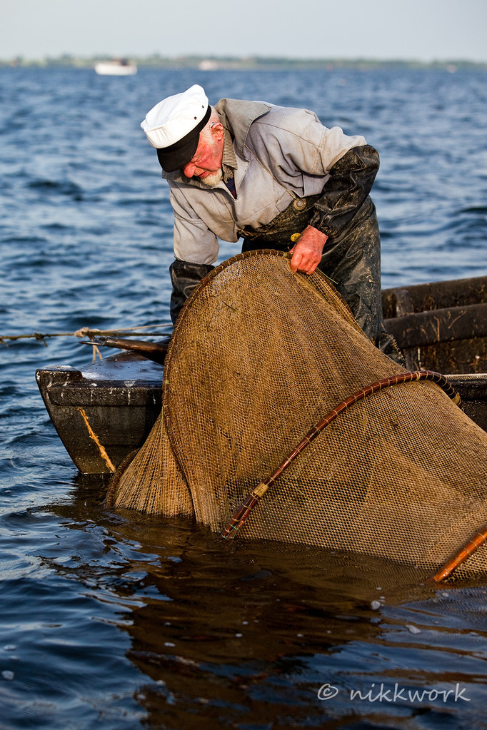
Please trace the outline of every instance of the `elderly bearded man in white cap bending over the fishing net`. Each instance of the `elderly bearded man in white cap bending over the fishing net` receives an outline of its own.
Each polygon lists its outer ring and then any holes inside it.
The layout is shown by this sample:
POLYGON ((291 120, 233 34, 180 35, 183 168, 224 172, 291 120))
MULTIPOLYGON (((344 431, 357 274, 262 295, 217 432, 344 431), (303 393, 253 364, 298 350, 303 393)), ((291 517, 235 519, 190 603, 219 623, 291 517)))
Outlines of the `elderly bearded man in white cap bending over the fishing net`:
POLYGON ((377 347, 401 361, 383 331, 380 237, 369 198, 379 158, 364 137, 327 128, 313 112, 221 99, 193 85, 141 124, 156 147, 175 212, 171 316, 218 257, 218 239, 243 251, 291 250, 291 269, 318 266, 377 347))

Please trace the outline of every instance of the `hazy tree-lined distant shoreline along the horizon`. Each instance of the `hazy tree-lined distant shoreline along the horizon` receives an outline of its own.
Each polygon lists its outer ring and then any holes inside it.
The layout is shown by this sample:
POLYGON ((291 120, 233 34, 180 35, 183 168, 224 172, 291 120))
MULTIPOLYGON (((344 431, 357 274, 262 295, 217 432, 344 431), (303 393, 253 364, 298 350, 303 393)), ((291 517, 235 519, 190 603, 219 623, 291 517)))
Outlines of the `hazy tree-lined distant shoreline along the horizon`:
MULTIPOLYGON (((0 59, 0 67, 14 68, 74 68, 93 69, 99 61, 109 61, 108 56, 81 58, 62 55, 58 58, 28 59, 23 57, 0 59)), ((287 70, 287 69, 322 69, 334 71, 372 71, 372 70, 434 70, 454 73, 457 71, 487 71, 485 63, 451 59, 449 61, 405 61, 400 59, 377 60, 373 58, 266 58, 250 56, 232 58, 215 56, 182 56, 180 58, 164 58, 151 55, 143 58, 131 56, 130 61, 137 64, 138 69, 199 69, 200 71, 225 70, 287 70)))

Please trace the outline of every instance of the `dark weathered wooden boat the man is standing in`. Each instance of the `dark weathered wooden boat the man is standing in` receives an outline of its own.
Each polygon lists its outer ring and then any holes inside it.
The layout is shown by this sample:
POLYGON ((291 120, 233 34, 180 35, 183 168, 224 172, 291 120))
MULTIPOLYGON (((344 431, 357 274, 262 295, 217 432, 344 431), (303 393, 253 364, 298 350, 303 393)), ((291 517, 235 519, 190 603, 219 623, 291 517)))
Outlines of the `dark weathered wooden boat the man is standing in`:
MULTIPOLYGON (((383 314, 407 369, 445 374, 466 414, 487 430, 487 276, 385 289, 383 314)), ((99 344, 110 346, 108 339, 99 344)), ((157 362, 131 342, 83 369, 36 372, 50 419, 83 474, 114 472, 161 412, 166 343, 156 347, 157 362)))

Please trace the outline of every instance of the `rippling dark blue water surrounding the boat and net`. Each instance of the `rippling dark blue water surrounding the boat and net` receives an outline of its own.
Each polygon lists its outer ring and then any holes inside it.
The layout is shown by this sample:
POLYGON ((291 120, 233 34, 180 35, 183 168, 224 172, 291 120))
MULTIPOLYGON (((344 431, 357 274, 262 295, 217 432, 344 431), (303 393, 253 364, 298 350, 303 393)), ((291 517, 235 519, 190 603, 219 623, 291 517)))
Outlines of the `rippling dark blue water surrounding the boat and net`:
MULTIPOLYGON (((486 274, 486 80, 0 69, 0 334, 168 320, 172 214, 139 123, 193 82, 377 147, 383 286, 486 274)), ((86 361, 74 337, 0 350, 0 728, 486 727, 485 580, 434 589, 385 561, 107 512, 34 381, 86 361)))

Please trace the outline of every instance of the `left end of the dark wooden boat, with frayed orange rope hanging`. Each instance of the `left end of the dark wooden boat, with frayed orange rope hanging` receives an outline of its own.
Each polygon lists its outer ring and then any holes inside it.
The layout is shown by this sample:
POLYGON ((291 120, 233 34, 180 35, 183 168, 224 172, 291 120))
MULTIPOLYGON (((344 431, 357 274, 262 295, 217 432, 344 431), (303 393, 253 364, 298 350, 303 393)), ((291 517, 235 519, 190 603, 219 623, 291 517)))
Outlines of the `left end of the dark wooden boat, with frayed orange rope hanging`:
POLYGON ((85 371, 36 372, 45 407, 83 474, 108 474, 143 444, 161 412, 163 367, 118 353, 85 371))

